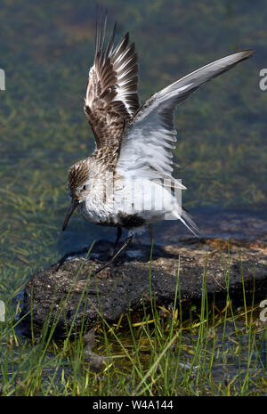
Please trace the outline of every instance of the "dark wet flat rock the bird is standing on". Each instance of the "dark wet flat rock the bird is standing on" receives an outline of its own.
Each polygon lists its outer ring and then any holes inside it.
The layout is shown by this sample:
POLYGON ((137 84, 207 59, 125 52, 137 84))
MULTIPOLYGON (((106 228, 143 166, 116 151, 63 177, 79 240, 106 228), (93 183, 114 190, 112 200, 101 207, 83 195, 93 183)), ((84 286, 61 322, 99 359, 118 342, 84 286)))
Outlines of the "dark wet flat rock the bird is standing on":
POLYGON ((113 264, 90 274, 107 260, 112 244, 99 241, 85 259, 88 248, 65 256, 59 264, 37 272, 24 291, 22 333, 28 335, 32 323, 40 331, 44 321, 57 322, 54 335, 64 337, 82 326, 92 329, 101 318, 115 323, 122 314, 142 320, 144 307, 150 308, 151 296, 158 306, 174 303, 179 271, 182 313, 201 303, 206 267, 208 303, 224 307, 229 282, 232 303, 243 304, 243 286, 247 304, 267 297, 267 244, 261 240, 196 239, 184 237, 173 245, 150 246, 135 241, 113 264), (229 251, 230 247, 230 251, 229 251), (180 264, 180 265, 179 265, 180 264), (244 284, 242 282, 244 280, 244 284))

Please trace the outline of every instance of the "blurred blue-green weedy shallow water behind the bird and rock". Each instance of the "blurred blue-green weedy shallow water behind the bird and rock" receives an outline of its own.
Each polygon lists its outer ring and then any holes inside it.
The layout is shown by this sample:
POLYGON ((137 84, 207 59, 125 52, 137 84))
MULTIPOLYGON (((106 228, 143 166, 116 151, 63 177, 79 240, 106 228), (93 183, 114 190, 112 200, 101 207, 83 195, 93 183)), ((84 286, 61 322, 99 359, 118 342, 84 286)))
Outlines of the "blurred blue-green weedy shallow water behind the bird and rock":
MULTIPOLYGON (((225 54, 254 48, 255 56, 205 85, 177 110, 177 173, 188 187, 182 204, 204 236, 266 239, 266 99, 259 71, 266 66, 267 9, 257 4, 113 0, 110 28, 131 32, 139 53, 142 100, 225 54), (152 39, 152 41, 151 41, 152 39)), ((28 276, 115 230, 74 215, 70 165, 94 147, 83 114, 93 58, 94 6, 85 0, 33 3, 2 0, 0 68, 0 298, 17 294, 28 276)), ((181 223, 154 225, 156 243, 190 234, 181 223)), ((150 242, 149 234, 142 242, 150 242)))

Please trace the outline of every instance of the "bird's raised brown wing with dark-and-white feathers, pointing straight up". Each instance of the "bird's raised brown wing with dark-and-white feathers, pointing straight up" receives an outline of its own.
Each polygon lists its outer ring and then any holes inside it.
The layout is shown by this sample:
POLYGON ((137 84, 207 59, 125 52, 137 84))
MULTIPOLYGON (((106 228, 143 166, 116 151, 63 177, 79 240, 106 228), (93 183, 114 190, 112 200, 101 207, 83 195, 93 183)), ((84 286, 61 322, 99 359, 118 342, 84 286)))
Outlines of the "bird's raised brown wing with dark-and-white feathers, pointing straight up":
POLYGON ((116 24, 105 48, 106 19, 97 23, 93 67, 85 94, 85 115, 98 149, 118 143, 126 123, 138 110, 138 65, 129 34, 114 46, 116 24))

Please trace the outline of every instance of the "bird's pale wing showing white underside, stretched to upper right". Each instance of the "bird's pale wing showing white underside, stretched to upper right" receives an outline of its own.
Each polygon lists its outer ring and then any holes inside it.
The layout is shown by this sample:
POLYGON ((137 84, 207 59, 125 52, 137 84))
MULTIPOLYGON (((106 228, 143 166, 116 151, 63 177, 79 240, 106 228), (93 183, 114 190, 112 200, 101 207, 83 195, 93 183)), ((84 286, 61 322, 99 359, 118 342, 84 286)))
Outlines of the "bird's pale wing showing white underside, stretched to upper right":
POLYGON ((198 86, 244 61, 253 51, 226 56, 200 68, 155 93, 136 112, 125 128, 117 171, 133 177, 149 179, 171 175, 172 149, 176 142, 174 109, 198 86))

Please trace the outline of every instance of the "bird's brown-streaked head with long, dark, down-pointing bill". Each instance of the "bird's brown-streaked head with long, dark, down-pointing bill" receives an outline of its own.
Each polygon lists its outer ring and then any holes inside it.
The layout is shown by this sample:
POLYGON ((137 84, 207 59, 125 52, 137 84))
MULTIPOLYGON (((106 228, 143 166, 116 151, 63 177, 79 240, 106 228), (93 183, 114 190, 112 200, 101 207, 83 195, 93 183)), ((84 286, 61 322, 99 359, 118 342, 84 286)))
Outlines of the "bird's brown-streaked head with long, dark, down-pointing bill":
POLYGON ((89 166, 86 159, 79 161, 69 168, 68 189, 71 198, 69 210, 62 225, 64 231, 74 210, 85 201, 89 194, 89 166))

